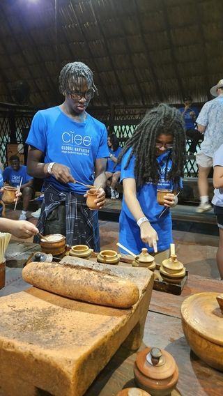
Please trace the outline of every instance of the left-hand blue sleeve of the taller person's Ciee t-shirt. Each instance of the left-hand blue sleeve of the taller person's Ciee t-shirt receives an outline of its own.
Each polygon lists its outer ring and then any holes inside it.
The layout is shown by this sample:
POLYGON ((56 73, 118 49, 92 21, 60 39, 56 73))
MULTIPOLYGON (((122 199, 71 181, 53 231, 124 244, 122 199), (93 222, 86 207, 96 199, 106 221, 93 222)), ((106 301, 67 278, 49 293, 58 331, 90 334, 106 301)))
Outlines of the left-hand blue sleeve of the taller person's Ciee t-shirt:
POLYGON ((29 135, 26 139, 26 144, 33 146, 38 150, 46 153, 47 151, 47 138, 46 138, 47 123, 43 114, 37 112, 33 117, 29 135))

